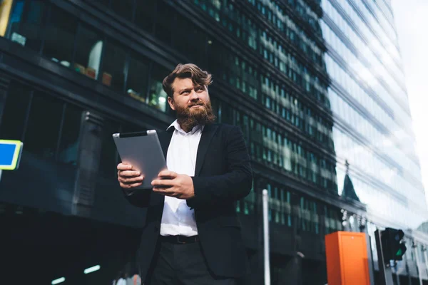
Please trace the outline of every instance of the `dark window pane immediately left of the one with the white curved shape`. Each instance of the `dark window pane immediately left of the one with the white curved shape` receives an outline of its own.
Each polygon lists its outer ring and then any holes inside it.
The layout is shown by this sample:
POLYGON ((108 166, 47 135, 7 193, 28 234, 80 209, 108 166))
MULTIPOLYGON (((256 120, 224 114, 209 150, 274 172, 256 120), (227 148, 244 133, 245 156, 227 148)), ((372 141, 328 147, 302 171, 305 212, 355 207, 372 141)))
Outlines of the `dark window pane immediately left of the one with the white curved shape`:
POLYGON ((43 54, 69 67, 73 60, 73 46, 77 20, 71 14, 52 6, 51 21, 46 27, 43 54))

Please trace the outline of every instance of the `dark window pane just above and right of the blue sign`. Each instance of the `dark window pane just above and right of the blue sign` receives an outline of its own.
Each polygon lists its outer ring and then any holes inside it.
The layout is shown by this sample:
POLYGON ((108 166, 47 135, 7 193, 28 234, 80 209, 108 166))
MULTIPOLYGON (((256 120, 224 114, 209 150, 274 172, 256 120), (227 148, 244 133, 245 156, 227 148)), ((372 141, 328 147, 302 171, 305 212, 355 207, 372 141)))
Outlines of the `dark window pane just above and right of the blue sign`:
POLYGON ((25 150, 46 158, 55 157, 62 111, 63 103, 34 93, 24 138, 25 150))

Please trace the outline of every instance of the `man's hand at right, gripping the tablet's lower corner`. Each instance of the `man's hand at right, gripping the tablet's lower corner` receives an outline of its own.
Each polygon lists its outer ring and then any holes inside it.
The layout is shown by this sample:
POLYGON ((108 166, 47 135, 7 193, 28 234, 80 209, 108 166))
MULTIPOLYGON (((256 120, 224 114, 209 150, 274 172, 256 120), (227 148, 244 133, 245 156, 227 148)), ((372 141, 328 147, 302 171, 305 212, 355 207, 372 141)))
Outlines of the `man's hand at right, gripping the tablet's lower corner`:
POLYGON ((158 179, 153 180, 153 191, 159 194, 178 199, 190 199, 195 197, 193 180, 190 176, 178 174, 170 170, 159 172, 158 179))

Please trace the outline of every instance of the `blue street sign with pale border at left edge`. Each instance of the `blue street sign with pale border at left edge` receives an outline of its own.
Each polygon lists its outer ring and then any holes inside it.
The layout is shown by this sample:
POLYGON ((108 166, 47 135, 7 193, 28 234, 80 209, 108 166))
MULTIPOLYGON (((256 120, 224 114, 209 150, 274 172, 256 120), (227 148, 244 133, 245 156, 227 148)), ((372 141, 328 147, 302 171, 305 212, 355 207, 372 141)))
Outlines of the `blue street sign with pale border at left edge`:
POLYGON ((0 140, 0 170, 19 167, 23 143, 19 140, 0 140))

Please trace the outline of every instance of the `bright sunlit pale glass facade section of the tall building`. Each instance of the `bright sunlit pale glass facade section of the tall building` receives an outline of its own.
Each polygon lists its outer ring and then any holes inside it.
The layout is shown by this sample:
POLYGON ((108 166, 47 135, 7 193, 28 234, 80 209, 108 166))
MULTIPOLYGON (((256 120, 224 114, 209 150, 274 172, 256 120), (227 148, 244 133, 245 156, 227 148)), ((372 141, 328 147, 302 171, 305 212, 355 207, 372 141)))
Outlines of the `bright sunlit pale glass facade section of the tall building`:
POLYGON ((389 4, 322 0, 321 6, 328 94, 340 122, 333 127, 338 181, 348 160, 368 212, 416 229, 427 204, 389 4))

